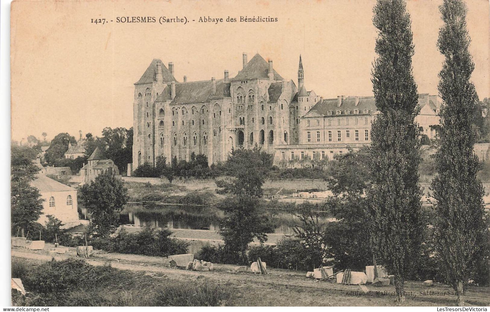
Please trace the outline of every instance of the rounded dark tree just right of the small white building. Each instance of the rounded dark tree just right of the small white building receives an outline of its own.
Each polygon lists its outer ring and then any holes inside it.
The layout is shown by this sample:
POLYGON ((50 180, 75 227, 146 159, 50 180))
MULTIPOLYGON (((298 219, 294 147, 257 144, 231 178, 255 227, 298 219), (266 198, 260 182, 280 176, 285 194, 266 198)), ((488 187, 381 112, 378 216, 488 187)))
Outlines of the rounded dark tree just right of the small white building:
POLYGON ((116 230, 126 195, 123 182, 111 174, 99 175, 82 186, 81 199, 98 235, 105 237, 116 230))

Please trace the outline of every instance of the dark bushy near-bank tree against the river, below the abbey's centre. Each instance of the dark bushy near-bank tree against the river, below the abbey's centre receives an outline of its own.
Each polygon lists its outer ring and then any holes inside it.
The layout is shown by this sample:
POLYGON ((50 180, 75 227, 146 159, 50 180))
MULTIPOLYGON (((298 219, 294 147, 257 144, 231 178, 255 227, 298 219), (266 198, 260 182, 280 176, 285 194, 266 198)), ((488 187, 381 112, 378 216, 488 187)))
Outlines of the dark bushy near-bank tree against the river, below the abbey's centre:
POLYGON ((224 212, 220 235, 230 259, 245 264, 248 261, 248 244, 257 238, 261 244, 271 232, 269 219, 258 208, 257 199, 251 197, 231 198, 221 201, 218 208, 224 212))

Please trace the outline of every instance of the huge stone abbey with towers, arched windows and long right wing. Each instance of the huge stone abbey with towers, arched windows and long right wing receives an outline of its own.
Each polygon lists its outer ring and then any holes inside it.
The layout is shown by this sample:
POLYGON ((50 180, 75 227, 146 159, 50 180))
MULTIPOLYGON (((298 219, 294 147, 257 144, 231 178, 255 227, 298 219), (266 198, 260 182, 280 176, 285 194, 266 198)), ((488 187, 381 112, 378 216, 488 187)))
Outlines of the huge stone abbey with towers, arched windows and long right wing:
MULTIPOLYGON (((274 156, 280 167, 315 165, 349 147, 370 143, 371 121, 377 114, 373 97, 323 99, 304 86, 299 57, 297 86, 285 80, 256 54, 243 53, 243 68, 230 78, 178 82, 173 64, 154 59, 134 91, 133 165, 155 165, 204 154, 209 164, 226 160, 232 148, 256 144, 274 156)), ((440 99, 419 95, 420 130, 429 138, 439 124, 440 99)), ((129 166, 131 167, 131 166, 129 166)), ((129 169, 130 170, 130 169, 129 169)))

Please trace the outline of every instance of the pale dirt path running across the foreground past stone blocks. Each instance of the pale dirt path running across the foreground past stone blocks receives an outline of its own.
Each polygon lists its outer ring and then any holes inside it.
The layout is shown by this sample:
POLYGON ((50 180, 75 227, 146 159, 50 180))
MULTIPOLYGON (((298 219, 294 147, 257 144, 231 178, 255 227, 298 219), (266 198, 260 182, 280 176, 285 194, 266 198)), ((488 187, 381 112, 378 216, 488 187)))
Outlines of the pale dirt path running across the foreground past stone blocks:
MULTIPOLYGON (((41 262, 50 261, 52 258, 55 260, 64 260, 67 258, 76 257, 73 255, 73 250, 70 250, 68 254, 44 254, 44 251, 34 252, 24 248, 18 248, 12 250, 12 257, 33 259, 41 262)), ((207 272, 186 271, 177 268, 170 268, 167 265, 167 258, 162 257, 148 257, 141 255, 126 255, 116 253, 98 253, 93 257, 87 259, 87 263, 94 266, 102 266, 110 263, 112 267, 130 270, 130 271, 143 271, 148 275, 153 275, 155 278, 168 277, 175 279, 182 279, 185 277, 198 277, 205 276, 207 278, 218 281, 232 281, 235 283, 261 283, 269 284, 270 286, 286 286, 305 289, 324 289, 324 290, 338 290, 347 292, 363 292, 357 285, 340 285, 329 282, 315 282, 315 280, 307 279, 303 272, 284 270, 284 269, 269 269, 270 274, 261 275, 253 274, 251 272, 236 273, 232 272, 232 265, 215 265, 215 270, 207 272)), ((377 288, 373 286, 367 286, 368 290, 374 294, 383 294, 394 292, 393 286, 377 288)), ((441 296, 441 293, 445 293, 443 296, 447 299, 456 300, 456 296, 451 295, 452 289, 444 285, 435 285, 431 288, 426 288, 420 282, 406 282, 405 290, 408 293, 413 293, 417 298, 423 298, 427 301, 434 300, 435 296, 441 296), (447 294, 449 293, 449 294, 447 294)), ((474 305, 490 305, 490 290, 489 288, 472 288, 467 291, 466 300, 468 303, 474 305)))

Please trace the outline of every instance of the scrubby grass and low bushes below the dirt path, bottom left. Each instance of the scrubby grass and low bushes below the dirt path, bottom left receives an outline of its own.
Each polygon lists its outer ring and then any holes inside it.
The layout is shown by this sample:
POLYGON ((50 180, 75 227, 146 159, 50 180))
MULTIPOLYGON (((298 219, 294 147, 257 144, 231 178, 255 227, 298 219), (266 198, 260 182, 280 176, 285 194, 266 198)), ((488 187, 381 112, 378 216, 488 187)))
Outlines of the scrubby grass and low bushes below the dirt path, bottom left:
POLYGON ((12 277, 30 292, 12 291, 14 306, 223 306, 232 295, 214 281, 155 279, 76 259, 30 265, 14 258, 12 277))

